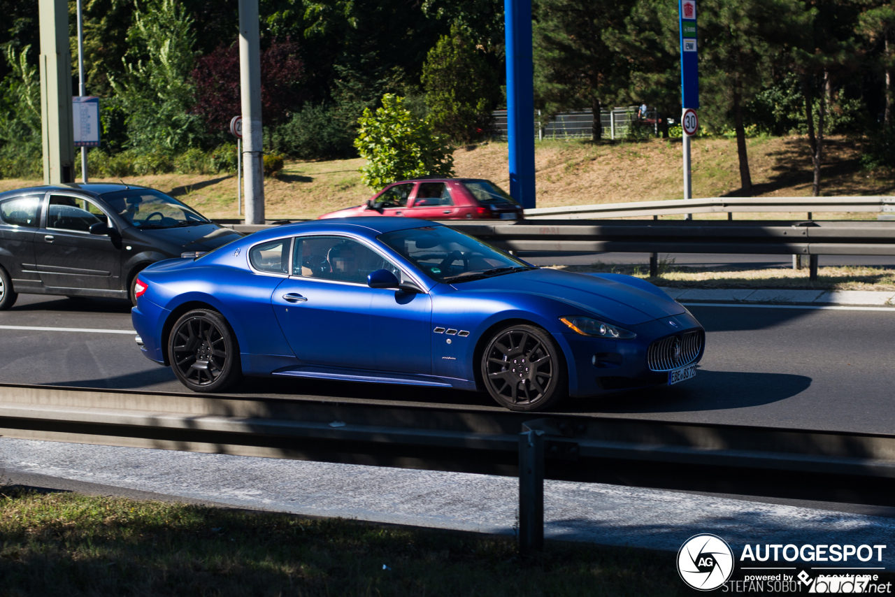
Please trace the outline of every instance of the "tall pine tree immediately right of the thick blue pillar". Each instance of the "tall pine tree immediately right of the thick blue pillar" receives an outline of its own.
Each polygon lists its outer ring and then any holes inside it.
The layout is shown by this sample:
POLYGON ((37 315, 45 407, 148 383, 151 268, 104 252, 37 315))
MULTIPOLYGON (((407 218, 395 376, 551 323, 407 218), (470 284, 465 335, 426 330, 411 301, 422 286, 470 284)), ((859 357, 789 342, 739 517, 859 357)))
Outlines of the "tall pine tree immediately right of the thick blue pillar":
POLYGON ((608 33, 624 26, 630 4, 615 0, 541 0, 535 13, 534 70, 539 103, 551 112, 591 107, 593 141, 601 108, 626 88, 629 64, 608 33))

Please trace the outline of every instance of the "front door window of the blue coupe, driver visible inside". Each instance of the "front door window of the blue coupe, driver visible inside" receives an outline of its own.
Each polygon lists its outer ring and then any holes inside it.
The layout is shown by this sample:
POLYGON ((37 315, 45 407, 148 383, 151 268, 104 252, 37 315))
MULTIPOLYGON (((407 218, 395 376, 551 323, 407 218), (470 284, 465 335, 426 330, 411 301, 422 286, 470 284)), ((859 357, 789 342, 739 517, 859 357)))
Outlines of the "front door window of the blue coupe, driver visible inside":
POLYGON ((295 239, 292 262, 294 276, 318 277, 340 282, 366 284, 377 269, 396 276, 401 270, 362 243, 344 236, 305 236, 295 239))

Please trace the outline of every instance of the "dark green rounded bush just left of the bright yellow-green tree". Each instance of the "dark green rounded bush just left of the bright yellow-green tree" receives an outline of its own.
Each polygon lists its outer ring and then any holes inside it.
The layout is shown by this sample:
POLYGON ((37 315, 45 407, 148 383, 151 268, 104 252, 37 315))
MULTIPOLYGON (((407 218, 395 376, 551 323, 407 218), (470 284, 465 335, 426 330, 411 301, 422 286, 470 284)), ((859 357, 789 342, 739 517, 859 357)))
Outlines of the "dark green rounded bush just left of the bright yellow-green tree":
POLYGON ((271 132, 271 144, 277 151, 300 159, 354 158, 354 136, 345 111, 324 106, 305 106, 286 123, 271 132))

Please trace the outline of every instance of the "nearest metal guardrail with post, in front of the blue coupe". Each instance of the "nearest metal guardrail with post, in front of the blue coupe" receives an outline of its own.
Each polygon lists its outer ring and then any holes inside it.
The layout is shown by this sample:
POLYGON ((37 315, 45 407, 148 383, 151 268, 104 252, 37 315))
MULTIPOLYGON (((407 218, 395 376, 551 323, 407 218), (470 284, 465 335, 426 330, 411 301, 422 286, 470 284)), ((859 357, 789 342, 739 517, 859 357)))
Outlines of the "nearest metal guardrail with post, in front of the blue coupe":
POLYGON ((0 384, 0 436, 518 475, 524 549, 542 541, 544 478, 880 505, 895 490, 891 434, 350 398, 0 384))

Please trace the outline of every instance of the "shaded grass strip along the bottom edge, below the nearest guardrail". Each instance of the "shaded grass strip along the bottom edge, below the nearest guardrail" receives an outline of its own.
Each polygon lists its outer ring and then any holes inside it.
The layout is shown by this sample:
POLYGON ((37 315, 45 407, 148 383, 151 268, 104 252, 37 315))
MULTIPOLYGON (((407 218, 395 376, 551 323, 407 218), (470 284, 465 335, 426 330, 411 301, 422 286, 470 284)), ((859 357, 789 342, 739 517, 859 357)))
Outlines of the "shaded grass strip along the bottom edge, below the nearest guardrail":
POLYGON ((671 554, 0 488, 0 595, 674 595, 671 554), (5 494, 5 495, 3 495, 5 494), (388 569, 386 569, 388 567, 388 569))

